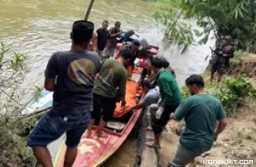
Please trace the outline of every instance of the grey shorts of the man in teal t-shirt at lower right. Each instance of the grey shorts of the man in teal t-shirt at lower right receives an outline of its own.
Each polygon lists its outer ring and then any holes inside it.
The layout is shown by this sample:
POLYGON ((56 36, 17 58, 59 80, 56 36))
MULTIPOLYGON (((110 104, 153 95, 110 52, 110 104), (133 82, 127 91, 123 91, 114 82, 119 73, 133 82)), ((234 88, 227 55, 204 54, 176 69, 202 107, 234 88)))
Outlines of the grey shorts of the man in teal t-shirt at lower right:
POLYGON ((193 162, 200 154, 203 154, 203 152, 188 151, 185 147, 178 145, 173 161, 169 163, 168 167, 184 167, 193 162))

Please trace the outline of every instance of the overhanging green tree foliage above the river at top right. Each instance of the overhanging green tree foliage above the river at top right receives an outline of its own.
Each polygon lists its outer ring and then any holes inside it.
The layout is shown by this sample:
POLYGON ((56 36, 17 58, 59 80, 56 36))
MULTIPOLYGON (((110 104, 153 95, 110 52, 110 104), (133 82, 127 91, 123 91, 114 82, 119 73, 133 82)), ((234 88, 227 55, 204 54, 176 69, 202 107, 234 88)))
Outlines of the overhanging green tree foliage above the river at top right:
POLYGON ((160 0, 164 7, 154 18, 165 26, 165 38, 183 47, 183 51, 201 37, 199 45, 209 38, 217 41, 231 35, 236 49, 256 53, 256 1, 254 0, 160 0), (195 20, 198 31, 186 21, 195 20), (210 32, 214 36, 210 36, 210 32))

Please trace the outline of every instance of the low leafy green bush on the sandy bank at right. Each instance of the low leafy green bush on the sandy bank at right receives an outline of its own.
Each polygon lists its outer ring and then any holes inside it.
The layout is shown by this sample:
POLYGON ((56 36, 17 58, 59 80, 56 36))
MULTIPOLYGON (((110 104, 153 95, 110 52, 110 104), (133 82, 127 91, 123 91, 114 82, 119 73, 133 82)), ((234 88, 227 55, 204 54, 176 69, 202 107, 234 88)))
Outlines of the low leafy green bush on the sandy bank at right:
MULTIPOLYGON (((224 82, 218 84, 210 84, 206 88, 206 92, 213 95, 221 101, 227 115, 236 111, 236 107, 243 105, 246 97, 255 98, 256 90, 247 79, 243 77, 227 78, 224 82)), ((183 98, 188 97, 188 89, 183 87, 183 98)))

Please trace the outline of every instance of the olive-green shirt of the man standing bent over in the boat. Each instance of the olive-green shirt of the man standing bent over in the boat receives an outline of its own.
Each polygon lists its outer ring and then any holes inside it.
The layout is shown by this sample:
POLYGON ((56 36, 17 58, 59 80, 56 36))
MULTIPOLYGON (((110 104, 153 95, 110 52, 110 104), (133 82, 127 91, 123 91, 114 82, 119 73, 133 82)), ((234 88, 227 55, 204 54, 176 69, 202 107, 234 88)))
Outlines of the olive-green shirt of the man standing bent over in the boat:
POLYGON ((119 87, 119 96, 126 95, 126 68, 118 60, 105 60, 94 82, 93 93, 115 98, 115 89, 119 87))

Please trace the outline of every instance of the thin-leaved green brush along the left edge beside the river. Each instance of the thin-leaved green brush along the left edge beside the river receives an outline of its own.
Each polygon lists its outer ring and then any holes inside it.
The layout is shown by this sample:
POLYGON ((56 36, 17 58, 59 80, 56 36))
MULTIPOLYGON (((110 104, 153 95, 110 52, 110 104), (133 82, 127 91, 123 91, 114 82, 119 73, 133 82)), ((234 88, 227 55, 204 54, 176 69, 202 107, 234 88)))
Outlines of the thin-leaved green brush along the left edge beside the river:
MULTIPOLYGON (((35 119, 24 120, 20 111, 24 95, 37 89, 22 89, 20 84, 30 71, 29 57, 20 53, 9 54, 0 45, 0 166, 35 166, 35 158, 26 145, 26 136, 35 119), (13 165, 12 165, 13 166, 13 165)), ((38 94, 38 93, 36 93, 38 94)))

